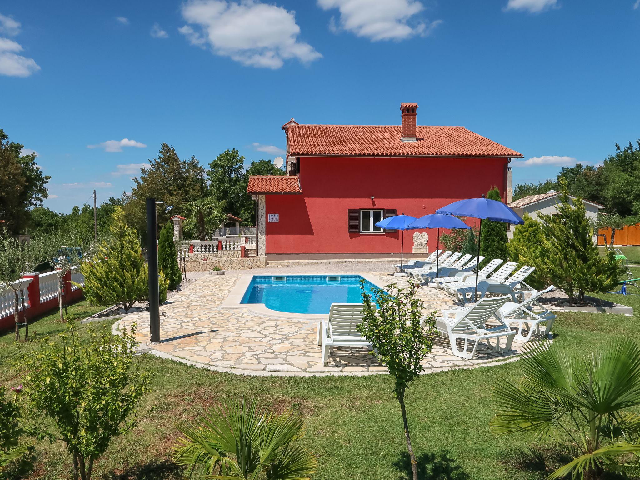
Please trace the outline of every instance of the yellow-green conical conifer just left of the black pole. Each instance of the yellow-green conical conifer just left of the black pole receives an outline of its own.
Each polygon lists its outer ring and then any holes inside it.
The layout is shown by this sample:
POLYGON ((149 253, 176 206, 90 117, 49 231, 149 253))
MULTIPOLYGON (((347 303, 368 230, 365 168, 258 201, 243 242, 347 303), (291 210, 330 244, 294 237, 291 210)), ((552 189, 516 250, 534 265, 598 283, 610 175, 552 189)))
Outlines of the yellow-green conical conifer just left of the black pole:
MULTIPOLYGON (((147 300, 148 270, 142 257, 138 233, 124 221, 122 207, 111 215, 109 241, 98 247, 93 262, 83 262, 84 296, 97 305, 122 305, 129 310, 134 302, 147 300)), ((167 280, 159 278, 160 301, 166 300, 167 280)))

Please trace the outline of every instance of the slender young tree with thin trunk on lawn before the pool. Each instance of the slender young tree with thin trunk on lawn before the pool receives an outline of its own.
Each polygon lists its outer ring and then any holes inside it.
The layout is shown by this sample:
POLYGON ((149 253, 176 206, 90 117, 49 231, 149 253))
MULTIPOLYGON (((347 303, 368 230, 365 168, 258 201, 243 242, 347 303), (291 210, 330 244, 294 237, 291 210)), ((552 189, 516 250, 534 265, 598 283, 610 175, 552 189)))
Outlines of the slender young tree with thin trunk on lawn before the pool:
POLYGON ((413 480, 418 480, 418 465, 409 433, 404 394, 408 385, 422 371, 422 359, 433 348, 435 328, 435 312, 422 316, 424 302, 415 296, 418 287, 419 284, 409 280, 408 289, 391 284, 385 290, 372 289, 371 294, 367 294, 363 280, 365 319, 358 324, 358 330, 374 348, 372 355, 377 355, 387 365, 389 373, 396 380, 394 395, 400 404, 413 480), (376 304, 380 308, 376 309, 376 304))

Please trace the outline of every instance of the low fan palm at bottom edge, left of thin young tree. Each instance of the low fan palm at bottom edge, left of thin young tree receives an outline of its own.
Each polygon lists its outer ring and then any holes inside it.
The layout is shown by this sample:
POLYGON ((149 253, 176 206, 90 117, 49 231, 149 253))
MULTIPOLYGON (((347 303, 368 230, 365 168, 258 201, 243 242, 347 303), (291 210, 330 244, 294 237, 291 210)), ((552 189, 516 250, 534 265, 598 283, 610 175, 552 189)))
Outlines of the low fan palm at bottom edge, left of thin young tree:
POLYGON ((314 473, 316 458, 291 445, 305 434, 298 415, 276 415, 253 400, 214 407, 196 424, 178 423, 186 438, 173 447, 173 460, 200 467, 202 477, 216 479, 306 480, 314 473))

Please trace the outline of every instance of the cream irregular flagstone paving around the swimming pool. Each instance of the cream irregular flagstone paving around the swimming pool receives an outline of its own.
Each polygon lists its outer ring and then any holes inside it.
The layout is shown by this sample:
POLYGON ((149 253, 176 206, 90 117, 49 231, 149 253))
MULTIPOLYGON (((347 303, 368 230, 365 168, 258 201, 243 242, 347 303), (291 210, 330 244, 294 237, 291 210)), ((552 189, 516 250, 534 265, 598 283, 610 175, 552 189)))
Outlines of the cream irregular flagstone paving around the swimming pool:
MULTIPOLYGON (((279 272, 274 269, 273 274, 279 272)), ((393 282, 406 285, 404 278, 379 272, 369 275, 377 278, 380 286, 393 282)), ((128 329, 136 323, 136 337, 143 351, 218 371, 302 376, 387 372, 367 354, 366 348, 332 348, 328 365, 323 366, 321 348, 317 346, 317 321, 309 321, 303 315, 299 319, 278 319, 246 308, 220 308, 240 278, 204 276, 161 305, 162 341, 158 344, 150 342, 148 312, 128 315, 114 329, 128 329)), ((454 306, 452 298, 437 289, 420 287, 418 296, 424 300, 425 312, 442 312, 454 306)), ((509 353, 481 350, 482 347, 483 344, 474 360, 464 360, 451 354, 448 339, 438 338, 433 351, 424 358, 425 372, 514 360, 522 344, 513 342, 509 353)))

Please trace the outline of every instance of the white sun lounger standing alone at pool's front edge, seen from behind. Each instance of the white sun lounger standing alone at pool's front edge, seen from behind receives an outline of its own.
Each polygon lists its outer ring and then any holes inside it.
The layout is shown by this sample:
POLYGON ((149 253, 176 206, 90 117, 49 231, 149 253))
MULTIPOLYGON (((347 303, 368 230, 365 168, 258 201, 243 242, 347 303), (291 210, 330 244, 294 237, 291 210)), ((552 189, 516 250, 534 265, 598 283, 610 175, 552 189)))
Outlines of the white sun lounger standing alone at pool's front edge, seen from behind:
POLYGON ((318 345, 322 346, 322 364, 326 365, 330 347, 369 347, 371 342, 358 332, 364 321, 362 303, 332 303, 328 320, 318 323, 318 345))

